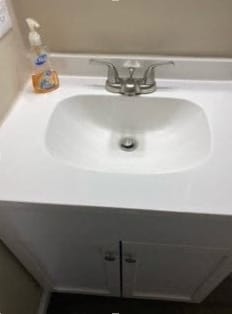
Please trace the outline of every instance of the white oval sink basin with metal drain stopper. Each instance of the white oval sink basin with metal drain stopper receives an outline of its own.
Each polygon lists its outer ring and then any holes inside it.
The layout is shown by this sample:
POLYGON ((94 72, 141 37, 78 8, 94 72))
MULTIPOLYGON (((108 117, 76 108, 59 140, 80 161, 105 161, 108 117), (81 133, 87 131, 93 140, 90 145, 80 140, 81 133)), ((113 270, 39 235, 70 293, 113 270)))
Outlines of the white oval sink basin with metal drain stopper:
POLYGON ((82 95, 57 104, 46 147, 83 170, 172 173, 208 157, 210 130, 201 107, 184 99, 82 95))

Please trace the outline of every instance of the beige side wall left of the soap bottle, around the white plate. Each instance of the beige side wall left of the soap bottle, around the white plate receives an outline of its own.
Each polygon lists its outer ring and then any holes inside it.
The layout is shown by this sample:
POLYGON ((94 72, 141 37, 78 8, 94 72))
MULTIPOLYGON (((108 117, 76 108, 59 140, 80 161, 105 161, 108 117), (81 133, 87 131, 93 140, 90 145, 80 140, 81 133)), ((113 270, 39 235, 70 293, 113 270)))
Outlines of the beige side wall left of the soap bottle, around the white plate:
POLYGON ((14 28, 0 39, 0 123, 28 77, 25 48, 10 7, 14 28))

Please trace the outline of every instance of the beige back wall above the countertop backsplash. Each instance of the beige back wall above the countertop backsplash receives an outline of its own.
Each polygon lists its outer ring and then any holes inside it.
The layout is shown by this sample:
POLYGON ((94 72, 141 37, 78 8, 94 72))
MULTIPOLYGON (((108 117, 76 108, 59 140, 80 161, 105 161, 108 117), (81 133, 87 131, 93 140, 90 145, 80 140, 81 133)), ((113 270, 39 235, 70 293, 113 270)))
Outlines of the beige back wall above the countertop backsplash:
POLYGON ((231 0, 13 0, 58 52, 232 57, 231 0))

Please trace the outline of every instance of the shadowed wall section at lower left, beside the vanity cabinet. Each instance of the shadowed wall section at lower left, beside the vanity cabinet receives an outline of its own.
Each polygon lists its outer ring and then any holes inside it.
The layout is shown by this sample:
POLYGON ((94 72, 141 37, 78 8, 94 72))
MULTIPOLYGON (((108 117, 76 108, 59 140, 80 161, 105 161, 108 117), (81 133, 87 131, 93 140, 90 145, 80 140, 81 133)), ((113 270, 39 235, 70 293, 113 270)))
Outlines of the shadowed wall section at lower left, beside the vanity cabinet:
POLYGON ((0 242, 0 312, 36 314, 40 288, 0 242))

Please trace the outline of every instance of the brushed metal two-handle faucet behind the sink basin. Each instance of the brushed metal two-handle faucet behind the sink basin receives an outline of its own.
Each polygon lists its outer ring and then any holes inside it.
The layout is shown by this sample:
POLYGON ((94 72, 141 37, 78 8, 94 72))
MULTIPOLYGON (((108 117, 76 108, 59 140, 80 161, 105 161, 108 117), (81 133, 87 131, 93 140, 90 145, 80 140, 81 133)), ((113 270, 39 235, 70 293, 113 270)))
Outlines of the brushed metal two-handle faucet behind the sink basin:
POLYGON ((145 71, 142 78, 135 78, 136 67, 128 67, 129 77, 121 78, 118 70, 113 63, 90 59, 90 63, 104 64, 108 67, 108 75, 105 84, 107 91, 119 93, 126 96, 135 96, 140 94, 149 94, 156 91, 155 69, 163 65, 174 65, 173 61, 151 64, 145 71))

